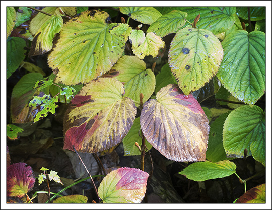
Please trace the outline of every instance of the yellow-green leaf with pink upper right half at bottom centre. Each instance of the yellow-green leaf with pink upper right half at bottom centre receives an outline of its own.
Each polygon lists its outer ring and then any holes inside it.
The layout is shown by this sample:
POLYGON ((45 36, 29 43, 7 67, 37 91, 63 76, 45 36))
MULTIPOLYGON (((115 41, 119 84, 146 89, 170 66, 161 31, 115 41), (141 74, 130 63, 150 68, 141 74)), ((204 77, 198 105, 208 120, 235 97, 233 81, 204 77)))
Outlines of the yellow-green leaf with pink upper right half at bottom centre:
POLYGON ((140 203, 149 174, 137 168, 119 168, 107 174, 98 187, 103 203, 140 203))

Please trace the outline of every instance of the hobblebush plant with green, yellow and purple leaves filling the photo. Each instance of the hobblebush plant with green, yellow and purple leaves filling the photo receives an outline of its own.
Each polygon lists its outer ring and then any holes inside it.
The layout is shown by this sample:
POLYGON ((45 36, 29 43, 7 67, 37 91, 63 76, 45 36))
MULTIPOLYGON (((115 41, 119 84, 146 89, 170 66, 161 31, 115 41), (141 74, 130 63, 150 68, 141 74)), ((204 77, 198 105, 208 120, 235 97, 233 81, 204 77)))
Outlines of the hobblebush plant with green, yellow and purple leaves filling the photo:
MULTIPOLYGON (((256 105, 265 93, 263 21, 264 7, 7 7, 7 78, 22 66, 30 72, 13 88, 8 137, 21 132, 11 135, 12 123, 36 123, 65 103, 63 149, 95 154, 123 142, 125 155, 141 155, 141 170, 120 168, 102 180, 100 202, 143 200, 152 147, 169 160, 193 162, 180 172, 188 179, 235 174, 246 191, 251 177, 242 180, 231 160, 252 155, 265 166, 265 110, 256 105), (43 54, 52 74, 28 64, 43 54), (166 63, 156 69, 152 58, 166 63), (239 105, 211 120, 200 103, 214 95, 239 105)), ((23 185, 14 196, 32 188, 23 185)), ((265 202, 264 185, 237 203, 265 202)), ((54 202, 75 199, 87 202, 54 202)))

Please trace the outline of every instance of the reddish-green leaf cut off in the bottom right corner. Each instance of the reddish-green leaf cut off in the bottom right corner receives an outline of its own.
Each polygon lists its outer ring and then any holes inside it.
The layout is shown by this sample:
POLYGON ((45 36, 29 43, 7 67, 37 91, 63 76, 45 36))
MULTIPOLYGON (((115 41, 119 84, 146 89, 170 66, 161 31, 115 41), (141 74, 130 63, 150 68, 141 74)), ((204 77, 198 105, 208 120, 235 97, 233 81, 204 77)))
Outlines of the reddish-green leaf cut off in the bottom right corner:
POLYGON ((236 203, 265 203, 265 184, 258 185, 246 191, 236 203))

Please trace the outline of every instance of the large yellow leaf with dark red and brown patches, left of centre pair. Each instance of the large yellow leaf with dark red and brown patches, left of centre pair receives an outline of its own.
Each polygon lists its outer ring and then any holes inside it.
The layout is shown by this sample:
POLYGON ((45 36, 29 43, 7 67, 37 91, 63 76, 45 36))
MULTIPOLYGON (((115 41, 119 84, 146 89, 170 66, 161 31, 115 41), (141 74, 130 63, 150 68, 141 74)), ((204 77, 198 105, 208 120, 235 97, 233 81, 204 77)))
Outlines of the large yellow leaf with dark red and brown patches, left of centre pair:
POLYGON ((119 144, 136 115, 116 78, 98 78, 73 98, 64 116, 64 149, 95 153, 119 144))

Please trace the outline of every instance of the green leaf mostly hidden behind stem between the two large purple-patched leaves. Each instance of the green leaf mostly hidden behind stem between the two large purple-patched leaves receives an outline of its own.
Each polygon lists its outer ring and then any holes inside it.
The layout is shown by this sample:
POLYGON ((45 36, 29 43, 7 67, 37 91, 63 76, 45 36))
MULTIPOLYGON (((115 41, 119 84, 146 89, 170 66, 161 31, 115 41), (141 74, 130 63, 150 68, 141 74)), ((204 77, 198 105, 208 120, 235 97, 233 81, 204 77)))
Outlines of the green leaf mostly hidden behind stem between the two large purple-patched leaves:
MULTIPOLYGON (((134 124, 132 125, 131 129, 127 133, 127 135, 123 138, 123 146, 124 146, 124 156, 130 155, 141 155, 141 152, 135 146, 135 142, 138 142, 139 146, 142 145, 142 138, 141 136, 141 125, 140 125, 140 117, 137 117, 134 120, 134 124)), ((152 145, 146 140, 147 149, 150 150, 152 145)))

